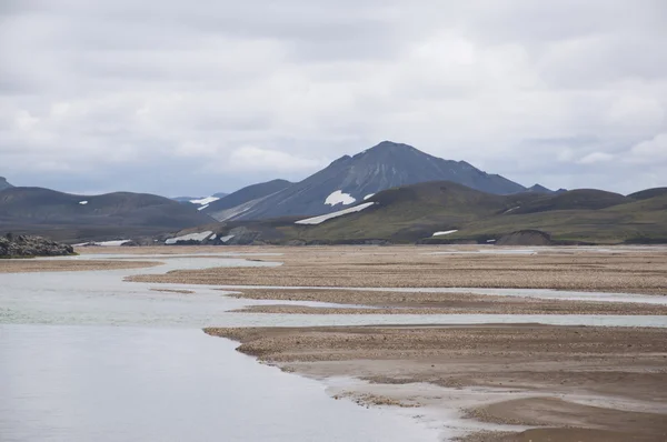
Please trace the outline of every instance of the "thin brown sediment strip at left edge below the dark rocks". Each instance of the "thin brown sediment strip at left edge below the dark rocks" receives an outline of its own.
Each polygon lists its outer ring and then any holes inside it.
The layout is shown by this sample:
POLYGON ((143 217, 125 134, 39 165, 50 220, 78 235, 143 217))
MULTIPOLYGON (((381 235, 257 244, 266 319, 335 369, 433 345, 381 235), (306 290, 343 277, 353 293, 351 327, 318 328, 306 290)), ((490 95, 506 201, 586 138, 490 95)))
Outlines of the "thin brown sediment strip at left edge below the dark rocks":
POLYGON ((94 270, 145 269, 160 262, 121 260, 0 260, 0 273, 86 272, 94 270))

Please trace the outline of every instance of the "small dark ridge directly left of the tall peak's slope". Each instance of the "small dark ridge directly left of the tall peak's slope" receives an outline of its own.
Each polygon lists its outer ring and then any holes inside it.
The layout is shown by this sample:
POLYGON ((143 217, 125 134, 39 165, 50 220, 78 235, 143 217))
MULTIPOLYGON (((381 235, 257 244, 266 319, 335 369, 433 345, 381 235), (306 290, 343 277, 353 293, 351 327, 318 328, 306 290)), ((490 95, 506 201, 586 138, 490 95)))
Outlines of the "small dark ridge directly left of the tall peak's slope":
POLYGON ((272 180, 248 185, 218 201, 211 202, 203 209, 203 212, 218 221, 225 221, 252 209, 267 197, 285 190, 290 185, 292 185, 292 183, 287 180, 272 180))

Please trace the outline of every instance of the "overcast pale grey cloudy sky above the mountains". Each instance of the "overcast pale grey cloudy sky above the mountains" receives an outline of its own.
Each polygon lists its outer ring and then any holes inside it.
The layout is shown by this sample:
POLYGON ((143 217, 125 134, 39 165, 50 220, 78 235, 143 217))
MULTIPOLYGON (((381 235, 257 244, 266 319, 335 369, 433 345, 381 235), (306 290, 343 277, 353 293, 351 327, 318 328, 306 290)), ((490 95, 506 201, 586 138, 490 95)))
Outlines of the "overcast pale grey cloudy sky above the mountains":
POLYGON ((667 185, 664 0, 2 0, 0 175, 207 195, 382 140, 667 185))

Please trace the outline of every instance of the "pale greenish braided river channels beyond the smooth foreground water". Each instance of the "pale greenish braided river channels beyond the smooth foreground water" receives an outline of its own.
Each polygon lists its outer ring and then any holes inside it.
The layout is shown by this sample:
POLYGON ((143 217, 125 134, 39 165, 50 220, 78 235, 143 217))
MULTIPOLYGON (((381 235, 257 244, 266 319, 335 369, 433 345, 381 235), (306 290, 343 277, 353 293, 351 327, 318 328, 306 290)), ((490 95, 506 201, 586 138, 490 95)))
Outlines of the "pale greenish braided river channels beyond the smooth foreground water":
MULTIPOLYGON (((91 259, 90 255, 77 259, 91 259), (83 258, 86 257, 86 258, 83 258)), ((106 259, 137 259, 135 255, 104 255, 106 259)), ((142 257, 158 259, 158 257, 142 257)), ((525 315, 525 314, 263 314, 229 313, 246 305, 275 304, 229 298, 218 287, 198 284, 151 284, 123 282, 130 274, 165 273, 175 269, 223 267, 266 267, 279 262, 249 261, 229 255, 208 254, 206 258, 169 257, 150 269, 91 272, 43 272, 0 274, 0 323, 107 324, 153 327, 309 327, 359 324, 460 324, 460 323, 527 323, 609 327, 667 327, 667 317, 638 315, 525 315), (151 289, 191 290, 193 294, 156 292, 151 289)), ((226 289, 252 287, 230 285, 226 289)), ((267 287, 268 288, 268 287, 267 287)), ((272 289, 306 289, 270 287, 272 289)), ((318 289, 318 288, 310 288, 318 289)), ((321 288, 319 288, 321 289, 321 288)), ((549 299, 667 303, 667 297, 616 293, 559 292, 521 289, 368 289, 335 288, 338 290, 399 292, 471 292, 549 299)), ((229 292, 227 292, 229 293, 229 292)), ((354 307, 307 301, 279 303, 310 307, 354 307)))

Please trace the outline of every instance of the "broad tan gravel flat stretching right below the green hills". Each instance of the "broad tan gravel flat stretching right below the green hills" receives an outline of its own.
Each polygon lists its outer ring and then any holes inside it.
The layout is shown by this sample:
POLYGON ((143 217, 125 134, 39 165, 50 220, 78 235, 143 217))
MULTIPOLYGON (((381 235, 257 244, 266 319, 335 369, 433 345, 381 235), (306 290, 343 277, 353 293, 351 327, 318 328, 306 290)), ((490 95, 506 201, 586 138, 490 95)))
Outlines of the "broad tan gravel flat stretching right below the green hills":
POLYGON ((659 249, 650 252, 619 249, 618 253, 547 249, 532 255, 430 254, 444 250, 468 249, 253 248, 253 252, 285 253, 263 259, 283 265, 181 270, 129 280, 215 285, 515 288, 667 294, 667 252, 659 249))

